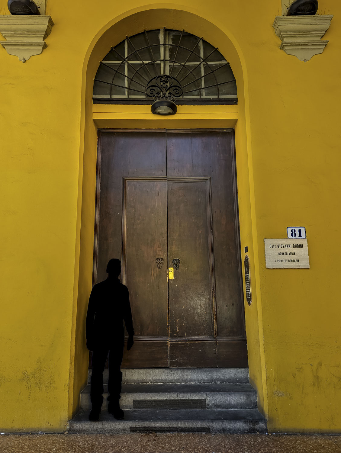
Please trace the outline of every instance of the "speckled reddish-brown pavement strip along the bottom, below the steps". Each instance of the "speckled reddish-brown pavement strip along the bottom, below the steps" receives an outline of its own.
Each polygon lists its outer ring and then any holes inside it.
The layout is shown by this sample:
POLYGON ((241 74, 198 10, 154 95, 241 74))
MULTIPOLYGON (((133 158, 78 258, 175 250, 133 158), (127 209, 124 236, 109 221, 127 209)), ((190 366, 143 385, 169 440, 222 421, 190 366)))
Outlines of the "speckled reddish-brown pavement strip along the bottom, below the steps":
POLYGON ((341 453, 341 436, 317 434, 10 434, 6 453, 341 453))

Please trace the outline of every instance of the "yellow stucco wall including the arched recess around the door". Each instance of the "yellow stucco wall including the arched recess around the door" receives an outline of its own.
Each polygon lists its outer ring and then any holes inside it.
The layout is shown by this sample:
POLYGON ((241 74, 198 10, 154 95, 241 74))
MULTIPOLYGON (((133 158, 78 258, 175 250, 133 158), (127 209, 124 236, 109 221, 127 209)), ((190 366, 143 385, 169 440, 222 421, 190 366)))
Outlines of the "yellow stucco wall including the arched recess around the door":
MULTIPOLYGON (((245 307, 250 377, 269 430, 341 430, 341 5, 328 1, 330 43, 307 63, 279 50, 280 0, 247 8, 48 0, 48 48, 24 64, 0 49, 1 430, 62 431, 77 410, 101 125, 91 80, 110 45, 163 26, 218 46, 237 79, 238 110, 179 106, 176 127, 236 121, 241 247, 249 246, 254 298, 245 307), (264 237, 285 237, 290 225, 307 228, 311 268, 265 269, 264 237)), ((106 111, 107 125, 172 127, 177 118, 144 109, 106 111)))

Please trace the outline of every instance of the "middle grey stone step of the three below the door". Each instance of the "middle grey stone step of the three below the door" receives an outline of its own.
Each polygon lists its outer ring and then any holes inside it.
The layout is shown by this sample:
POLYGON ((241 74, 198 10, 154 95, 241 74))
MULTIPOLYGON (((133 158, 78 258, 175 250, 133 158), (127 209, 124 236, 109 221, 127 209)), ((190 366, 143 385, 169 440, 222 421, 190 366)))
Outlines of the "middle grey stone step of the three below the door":
MULTIPOLYGON (((102 409, 108 407, 104 386, 102 409)), ((124 384, 122 409, 255 409, 257 392, 250 384, 124 384)), ((81 393, 82 410, 91 409, 90 386, 81 393)))

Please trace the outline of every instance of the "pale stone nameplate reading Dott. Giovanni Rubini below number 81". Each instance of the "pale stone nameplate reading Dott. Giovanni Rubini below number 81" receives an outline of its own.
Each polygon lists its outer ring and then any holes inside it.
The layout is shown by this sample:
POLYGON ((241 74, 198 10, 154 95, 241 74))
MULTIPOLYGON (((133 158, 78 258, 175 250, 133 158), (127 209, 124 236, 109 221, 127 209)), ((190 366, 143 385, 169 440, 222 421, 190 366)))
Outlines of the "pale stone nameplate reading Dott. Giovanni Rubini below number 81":
POLYGON ((264 239, 268 269, 309 269, 307 239, 264 239))

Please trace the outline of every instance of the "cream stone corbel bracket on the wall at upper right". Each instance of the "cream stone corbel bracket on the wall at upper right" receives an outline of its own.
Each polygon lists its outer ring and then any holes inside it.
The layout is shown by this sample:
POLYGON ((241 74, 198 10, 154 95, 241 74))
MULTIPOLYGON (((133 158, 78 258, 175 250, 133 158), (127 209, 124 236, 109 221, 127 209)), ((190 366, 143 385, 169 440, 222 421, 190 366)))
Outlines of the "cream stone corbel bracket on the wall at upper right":
POLYGON ((282 41, 279 48, 301 61, 310 60, 327 46, 329 41, 322 41, 321 38, 332 18, 332 15, 276 16, 273 27, 282 41))

